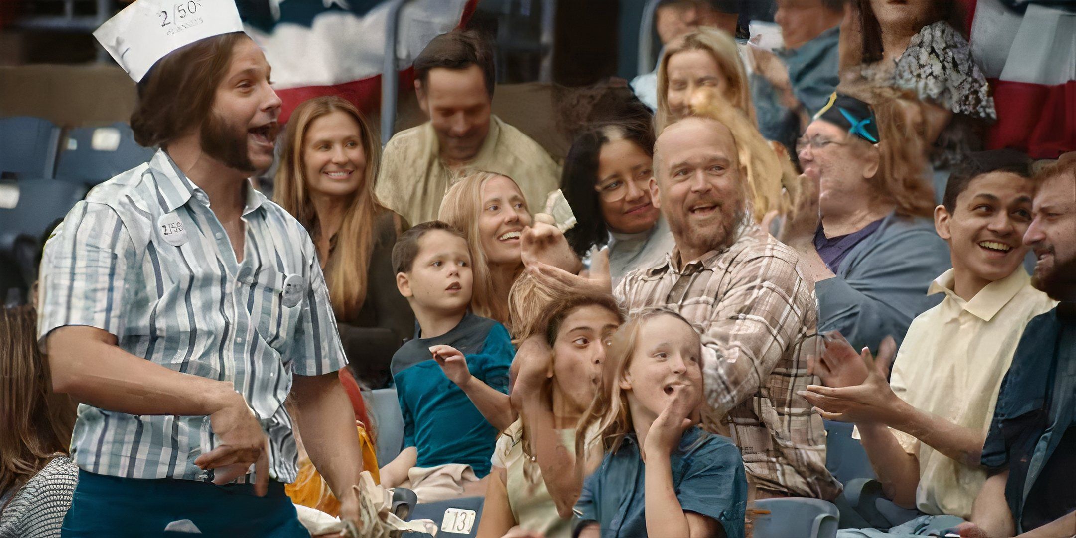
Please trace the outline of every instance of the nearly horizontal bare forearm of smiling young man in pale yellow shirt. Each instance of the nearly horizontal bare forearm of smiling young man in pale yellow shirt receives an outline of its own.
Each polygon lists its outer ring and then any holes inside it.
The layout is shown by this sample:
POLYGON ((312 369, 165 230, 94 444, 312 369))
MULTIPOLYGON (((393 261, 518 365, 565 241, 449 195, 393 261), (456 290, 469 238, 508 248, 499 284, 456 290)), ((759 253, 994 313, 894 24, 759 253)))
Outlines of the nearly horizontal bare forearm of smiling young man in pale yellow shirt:
POLYGON ((902 406, 896 420, 889 425, 968 467, 979 466, 982 443, 987 441, 981 431, 958 426, 911 406, 902 406))

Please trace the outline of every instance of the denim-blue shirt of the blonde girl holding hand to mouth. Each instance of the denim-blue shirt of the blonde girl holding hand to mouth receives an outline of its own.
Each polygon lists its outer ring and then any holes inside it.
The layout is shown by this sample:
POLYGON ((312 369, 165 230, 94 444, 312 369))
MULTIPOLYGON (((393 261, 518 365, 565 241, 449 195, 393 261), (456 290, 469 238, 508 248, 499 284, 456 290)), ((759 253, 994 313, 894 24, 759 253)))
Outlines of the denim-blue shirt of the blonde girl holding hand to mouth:
MULTIPOLYGON (((694 426, 680 439, 671 466, 680 507, 717 520, 728 538, 742 538, 747 478, 732 440, 694 426)), ((647 536, 645 477, 639 443, 635 434, 628 434, 583 482, 576 502, 580 522, 598 522, 601 538, 647 536)))

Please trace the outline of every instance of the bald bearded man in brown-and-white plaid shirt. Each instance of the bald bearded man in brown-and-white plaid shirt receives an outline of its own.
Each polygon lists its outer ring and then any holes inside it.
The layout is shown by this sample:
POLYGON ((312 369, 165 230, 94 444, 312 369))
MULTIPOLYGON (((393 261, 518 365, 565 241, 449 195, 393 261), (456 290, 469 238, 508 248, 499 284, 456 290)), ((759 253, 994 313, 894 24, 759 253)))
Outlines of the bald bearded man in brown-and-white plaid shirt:
POLYGON ((744 456, 753 498, 832 499, 822 419, 798 394, 815 382, 805 342, 817 312, 795 251, 751 216, 780 196, 779 160, 747 117, 717 104, 681 119, 654 146, 655 204, 676 247, 617 287, 631 312, 665 307, 702 329, 707 400, 744 456))

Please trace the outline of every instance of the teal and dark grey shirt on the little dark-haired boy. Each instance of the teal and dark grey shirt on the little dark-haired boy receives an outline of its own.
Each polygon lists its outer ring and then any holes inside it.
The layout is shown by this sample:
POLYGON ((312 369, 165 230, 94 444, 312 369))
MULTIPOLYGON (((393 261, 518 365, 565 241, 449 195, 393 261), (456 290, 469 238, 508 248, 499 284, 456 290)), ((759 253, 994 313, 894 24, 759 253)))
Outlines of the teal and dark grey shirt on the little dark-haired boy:
POLYGON ((459 350, 471 376, 505 394, 515 349, 504 325, 468 312, 444 335, 414 338, 393 355, 404 448, 419 450, 415 467, 467 464, 482 478, 490 472, 497 429, 434 360, 429 348, 438 344, 459 350))

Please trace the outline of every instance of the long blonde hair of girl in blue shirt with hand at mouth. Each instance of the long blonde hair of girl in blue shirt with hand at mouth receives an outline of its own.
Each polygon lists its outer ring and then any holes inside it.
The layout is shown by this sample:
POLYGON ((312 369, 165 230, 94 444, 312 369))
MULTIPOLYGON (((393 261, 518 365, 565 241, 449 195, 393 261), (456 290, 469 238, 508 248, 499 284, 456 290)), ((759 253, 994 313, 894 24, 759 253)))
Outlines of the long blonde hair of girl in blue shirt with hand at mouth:
MULTIPOLYGON (((601 386, 594 395, 591 407, 579 419, 579 426, 576 428, 577 431, 589 431, 591 428, 596 428, 597 439, 600 440, 605 452, 617 452, 624 441, 624 436, 634 430, 627 407, 627 394, 621 388, 620 381, 632 366, 632 359, 635 357, 635 351, 639 343, 640 329, 646 323, 662 315, 672 316, 692 327, 696 335, 698 332, 698 329, 691 322, 666 308, 646 309, 620 326, 620 330, 612 338, 612 345, 606 352, 606 362, 601 365, 601 386)), ((698 345, 702 350, 702 339, 699 339, 698 345)), ((702 368, 702 363, 699 363, 699 368, 702 368)), ((699 393, 704 394, 702 388, 699 387, 699 393)), ((704 416, 707 414, 704 411, 704 416)), ((584 437, 576 436, 576 462, 585 461, 584 437)))

